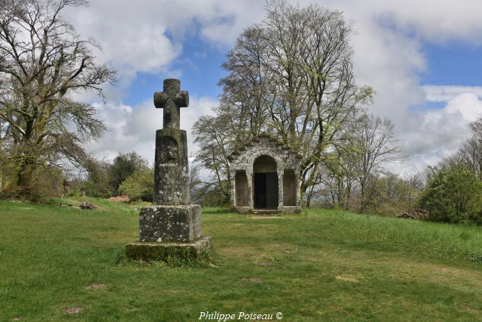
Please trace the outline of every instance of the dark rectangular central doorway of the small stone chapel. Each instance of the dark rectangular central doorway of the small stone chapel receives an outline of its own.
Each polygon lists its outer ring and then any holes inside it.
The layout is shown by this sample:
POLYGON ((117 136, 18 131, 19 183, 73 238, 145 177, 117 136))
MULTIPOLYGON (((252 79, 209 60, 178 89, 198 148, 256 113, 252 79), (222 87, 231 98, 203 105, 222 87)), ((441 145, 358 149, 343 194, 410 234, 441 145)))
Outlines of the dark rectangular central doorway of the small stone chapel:
POLYGON ((255 173, 255 208, 278 209, 278 174, 255 173))

